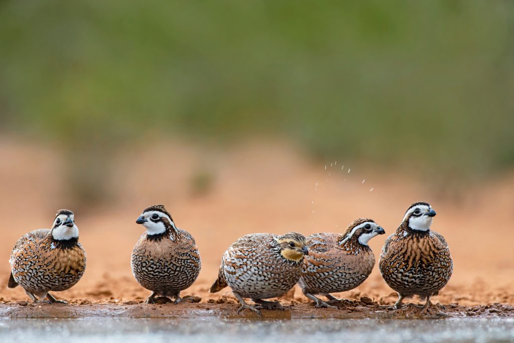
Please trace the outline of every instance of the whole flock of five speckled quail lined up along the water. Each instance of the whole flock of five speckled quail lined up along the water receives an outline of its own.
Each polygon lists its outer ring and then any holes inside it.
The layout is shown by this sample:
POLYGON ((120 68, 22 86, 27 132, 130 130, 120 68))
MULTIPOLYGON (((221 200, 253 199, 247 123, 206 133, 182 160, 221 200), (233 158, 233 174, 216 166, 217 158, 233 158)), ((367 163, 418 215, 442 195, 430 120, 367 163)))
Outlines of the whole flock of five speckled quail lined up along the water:
MULTIPOLYGON (((434 216, 429 204, 412 204, 382 248, 380 273, 398 293, 395 309, 413 295, 426 298, 424 307, 428 308, 430 297, 450 279, 453 263, 448 244, 430 230, 434 216)), ((180 302, 180 291, 191 286, 200 272, 194 238, 175 226, 162 205, 144 209, 136 223, 146 232, 132 252, 132 273, 141 286, 152 291, 146 302, 153 303, 157 295, 180 302)), ((317 308, 334 307, 342 300, 331 293, 352 290, 368 278, 375 265, 368 242, 384 233, 373 220, 357 219, 344 233, 247 234, 223 254, 210 292, 229 286, 241 302, 238 312, 248 309, 261 315, 260 309, 282 309, 280 302, 263 299, 279 297, 298 283, 317 308)), ((74 213, 68 210, 57 212, 51 229, 25 234, 12 250, 8 287, 20 285, 33 301, 65 303, 49 292, 67 290, 84 274, 86 254, 78 238, 74 213)))

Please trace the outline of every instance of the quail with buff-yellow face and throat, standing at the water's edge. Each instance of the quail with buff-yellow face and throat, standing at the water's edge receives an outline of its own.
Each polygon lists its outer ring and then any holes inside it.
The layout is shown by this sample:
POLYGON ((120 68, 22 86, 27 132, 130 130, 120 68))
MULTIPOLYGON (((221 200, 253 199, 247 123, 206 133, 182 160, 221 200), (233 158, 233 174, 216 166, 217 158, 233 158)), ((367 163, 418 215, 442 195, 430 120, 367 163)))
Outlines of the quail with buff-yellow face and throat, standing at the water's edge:
POLYGON ((260 309, 283 310, 280 302, 263 299, 282 296, 295 286, 305 255, 308 255, 306 240, 300 233, 247 234, 223 254, 218 278, 210 292, 230 286, 241 303, 237 313, 248 309, 262 316, 260 309), (250 298, 258 305, 249 305, 243 298, 250 298))

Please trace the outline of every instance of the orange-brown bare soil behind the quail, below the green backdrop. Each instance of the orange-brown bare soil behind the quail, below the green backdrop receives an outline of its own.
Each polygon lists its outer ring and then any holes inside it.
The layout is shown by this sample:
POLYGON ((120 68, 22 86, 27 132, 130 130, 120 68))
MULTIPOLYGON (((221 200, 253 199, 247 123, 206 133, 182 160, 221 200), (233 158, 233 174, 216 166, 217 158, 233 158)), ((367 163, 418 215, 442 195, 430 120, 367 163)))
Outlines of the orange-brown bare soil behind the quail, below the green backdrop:
MULTIPOLYGON (((352 165, 345 166, 343 172, 342 161, 332 168, 328 163, 324 170, 324 164, 308 162, 294 149, 278 143, 248 144, 228 152, 173 143, 126 151, 113 157, 114 177, 109 180, 113 192, 108 200, 95 208, 75 209, 70 208, 68 189, 62 182, 64 176, 59 163, 62 156, 50 148, 12 138, 0 140, 2 284, 7 285, 10 272, 7 261, 14 242, 30 230, 48 227, 57 209, 69 208, 76 212, 80 241, 87 252, 87 269, 75 287, 55 295, 70 300, 74 305, 69 309, 73 311, 89 311, 89 304, 100 303, 105 304, 101 307, 105 311, 111 311, 117 304, 120 313, 127 315, 159 312, 159 307, 146 310, 143 305, 134 304, 143 301, 150 292, 132 277, 130 255, 142 233, 142 227, 135 224, 137 216, 144 207, 163 203, 177 225, 195 237, 203 264, 198 281, 183 292, 199 296, 201 302, 179 304, 176 308, 162 305, 167 309, 165 313, 182 311, 179 309, 209 309, 220 314, 229 309, 232 313, 235 304, 209 303, 218 299, 233 301, 230 290, 209 294, 208 288, 216 278, 224 250, 243 234, 292 230, 306 235, 340 232, 359 217, 374 219, 390 234, 410 203, 428 201, 437 211, 433 229, 446 237, 454 259, 454 275, 448 286, 433 298, 434 303, 471 306, 456 308, 455 312, 464 314, 476 305, 514 304, 514 249, 511 247, 514 173, 498 176, 496 180, 482 180, 450 198, 424 186, 424 180, 398 172, 354 169, 352 165), (352 168, 351 173, 347 173, 347 168, 352 168), (192 191, 192 175, 205 171, 213 175, 212 187, 198 194, 192 191)), ((377 258, 386 237, 377 237, 370 243, 377 258)), ((337 296, 352 300, 369 297, 378 305, 396 300, 377 267, 360 287, 337 296)), ((13 290, 0 287, 0 312, 47 311, 44 304, 43 310, 37 310, 38 306, 15 305, 26 300, 20 287, 13 290)), ((296 289, 282 301, 306 303, 307 299, 296 289)), ((409 301, 420 303, 419 299, 409 301)), ((369 306, 374 305, 363 307, 369 306)), ((354 306, 354 310, 359 307, 362 306, 354 306)), ((447 306, 447 310, 451 309, 447 306)), ((484 307, 478 309, 474 312, 488 311, 484 307)), ((295 304, 290 311, 295 316, 307 312, 315 316, 320 313, 310 304, 295 304)))

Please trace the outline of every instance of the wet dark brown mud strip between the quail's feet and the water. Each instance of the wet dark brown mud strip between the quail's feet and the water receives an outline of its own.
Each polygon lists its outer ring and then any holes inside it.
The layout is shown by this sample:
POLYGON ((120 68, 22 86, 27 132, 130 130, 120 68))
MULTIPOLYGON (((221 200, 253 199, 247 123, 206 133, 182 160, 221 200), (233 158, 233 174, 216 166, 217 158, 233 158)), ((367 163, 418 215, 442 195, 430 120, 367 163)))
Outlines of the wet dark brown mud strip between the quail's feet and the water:
MULTIPOLYGON (((291 318, 514 318, 514 306, 500 303, 481 306, 462 306, 456 303, 432 305, 428 311, 420 306, 407 304, 400 310, 392 310, 376 302, 356 301, 339 309, 316 309, 311 304, 289 303, 285 310, 262 310, 265 319, 291 318)), ((247 310, 237 314, 235 303, 180 303, 180 304, 46 304, 20 303, 0 304, 0 317, 11 318, 83 318, 83 317, 128 317, 128 318, 259 318, 247 310)))

